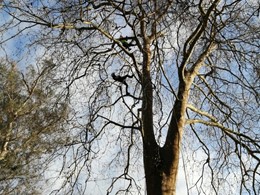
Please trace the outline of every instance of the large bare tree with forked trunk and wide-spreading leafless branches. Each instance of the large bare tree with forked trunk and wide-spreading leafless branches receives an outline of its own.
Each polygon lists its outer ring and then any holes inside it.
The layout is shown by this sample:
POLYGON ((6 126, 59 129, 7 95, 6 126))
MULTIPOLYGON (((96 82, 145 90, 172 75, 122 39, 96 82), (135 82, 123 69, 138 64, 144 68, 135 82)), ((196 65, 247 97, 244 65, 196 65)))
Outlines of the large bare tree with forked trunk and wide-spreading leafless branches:
POLYGON ((2 9, 10 20, 1 32, 22 24, 16 35, 48 49, 68 93, 86 90, 73 99, 81 137, 68 143, 77 155, 63 187, 84 193, 81 180, 97 180, 94 160, 106 152, 107 166, 121 167, 108 174, 108 194, 141 193, 132 174, 140 155, 147 194, 176 194, 183 146, 200 154, 183 153, 201 173, 187 176, 190 193, 259 193, 257 2, 4 1, 2 9), (114 72, 134 75, 129 94, 114 72))

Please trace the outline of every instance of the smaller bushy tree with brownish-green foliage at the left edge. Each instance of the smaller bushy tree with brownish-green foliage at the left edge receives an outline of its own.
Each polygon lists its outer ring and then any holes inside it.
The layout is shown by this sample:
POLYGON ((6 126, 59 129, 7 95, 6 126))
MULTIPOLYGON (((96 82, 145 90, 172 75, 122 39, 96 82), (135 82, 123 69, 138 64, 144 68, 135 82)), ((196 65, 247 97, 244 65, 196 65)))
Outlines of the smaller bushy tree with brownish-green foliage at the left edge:
POLYGON ((48 66, 39 72, 28 67, 23 74, 15 63, 2 59, 0 70, 0 192, 39 194, 35 187, 48 154, 65 143, 66 137, 53 136, 64 135, 67 106, 55 101, 48 66))

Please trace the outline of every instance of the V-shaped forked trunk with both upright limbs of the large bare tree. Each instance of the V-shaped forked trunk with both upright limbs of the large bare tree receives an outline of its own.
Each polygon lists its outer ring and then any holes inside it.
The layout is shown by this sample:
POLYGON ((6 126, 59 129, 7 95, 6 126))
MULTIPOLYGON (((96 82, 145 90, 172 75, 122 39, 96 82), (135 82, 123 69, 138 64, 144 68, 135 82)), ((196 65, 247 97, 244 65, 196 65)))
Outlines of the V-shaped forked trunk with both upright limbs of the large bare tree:
POLYGON ((185 124, 185 110, 191 84, 190 75, 179 72, 179 91, 173 107, 165 145, 160 147, 153 130, 153 85, 150 75, 151 51, 149 40, 144 44, 143 60, 143 105, 142 133, 144 169, 148 195, 172 195, 176 193, 179 154, 182 131, 185 124), (186 79, 183 76, 187 76, 186 79))

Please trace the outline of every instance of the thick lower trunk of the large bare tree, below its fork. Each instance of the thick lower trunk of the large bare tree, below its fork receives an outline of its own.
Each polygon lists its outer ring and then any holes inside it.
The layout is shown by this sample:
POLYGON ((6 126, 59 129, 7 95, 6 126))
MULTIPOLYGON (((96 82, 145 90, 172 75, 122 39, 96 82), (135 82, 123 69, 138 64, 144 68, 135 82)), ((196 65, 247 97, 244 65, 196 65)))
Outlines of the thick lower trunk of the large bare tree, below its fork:
POLYGON ((180 138, 177 135, 175 143, 162 148, 156 143, 144 144, 147 195, 176 194, 180 138))

